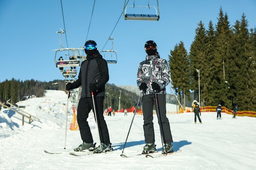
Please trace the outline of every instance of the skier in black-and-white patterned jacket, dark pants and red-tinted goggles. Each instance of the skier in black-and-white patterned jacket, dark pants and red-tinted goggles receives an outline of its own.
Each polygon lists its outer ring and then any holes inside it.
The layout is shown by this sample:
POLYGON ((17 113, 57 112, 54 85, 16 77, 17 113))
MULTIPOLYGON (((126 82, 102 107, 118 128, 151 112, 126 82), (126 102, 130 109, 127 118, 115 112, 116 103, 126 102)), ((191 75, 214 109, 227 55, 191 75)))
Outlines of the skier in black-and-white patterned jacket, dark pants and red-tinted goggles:
POLYGON ((146 145, 143 154, 155 152, 155 134, 153 127, 153 106, 157 111, 158 122, 163 139, 163 152, 173 152, 173 138, 170 124, 166 117, 166 86, 170 83, 170 71, 166 60, 160 58, 154 41, 145 44, 146 60, 139 64, 137 85, 142 91, 142 112, 144 118, 144 137, 146 145), (157 98, 155 97, 157 95, 157 98), (156 103, 157 101, 157 103, 156 103), (159 110, 157 110, 157 105, 159 110), (159 112, 159 113, 158 113, 159 112))

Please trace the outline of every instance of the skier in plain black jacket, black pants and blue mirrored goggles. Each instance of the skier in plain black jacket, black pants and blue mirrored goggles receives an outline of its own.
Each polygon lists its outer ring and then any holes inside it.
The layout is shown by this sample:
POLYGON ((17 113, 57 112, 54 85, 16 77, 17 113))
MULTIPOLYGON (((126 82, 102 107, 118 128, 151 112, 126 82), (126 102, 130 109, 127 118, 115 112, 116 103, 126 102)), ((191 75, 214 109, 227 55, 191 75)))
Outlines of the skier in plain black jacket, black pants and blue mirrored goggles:
POLYGON ((93 40, 85 42, 85 53, 87 54, 87 60, 81 63, 78 79, 74 83, 66 85, 67 90, 82 86, 81 98, 77 108, 77 122, 83 144, 74 150, 106 152, 112 150, 108 127, 103 116, 105 84, 109 80, 108 64, 106 60, 102 58, 102 55, 97 50, 97 44, 93 40), (96 114, 92 100, 92 92, 94 95, 96 114), (91 110, 94 112, 94 117, 97 118, 99 137, 101 140, 101 144, 96 149, 93 144, 92 133, 87 121, 91 110))

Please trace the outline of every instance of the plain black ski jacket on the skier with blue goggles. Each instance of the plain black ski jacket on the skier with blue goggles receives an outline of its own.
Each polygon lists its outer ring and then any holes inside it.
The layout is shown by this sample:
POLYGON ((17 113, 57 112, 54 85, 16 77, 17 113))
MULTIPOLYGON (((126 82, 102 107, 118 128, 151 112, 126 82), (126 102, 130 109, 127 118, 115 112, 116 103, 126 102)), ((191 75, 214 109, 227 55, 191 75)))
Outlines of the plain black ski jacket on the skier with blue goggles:
POLYGON ((81 97, 91 97, 89 85, 96 83, 98 90, 95 97, 105 97, 105 84, 109 80, 108 63, 97 51, 94 55, 87 55, 87 60, 81 63, 78 79, 71 84, 71 88, 82 86, 81 97))

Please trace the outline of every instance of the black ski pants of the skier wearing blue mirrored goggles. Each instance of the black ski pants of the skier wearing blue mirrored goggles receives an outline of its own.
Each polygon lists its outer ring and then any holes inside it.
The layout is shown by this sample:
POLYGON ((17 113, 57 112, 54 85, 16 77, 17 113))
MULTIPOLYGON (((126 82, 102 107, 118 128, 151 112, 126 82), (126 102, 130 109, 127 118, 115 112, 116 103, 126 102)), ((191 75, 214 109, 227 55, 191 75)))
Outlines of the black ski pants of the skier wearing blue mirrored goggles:
POLYGON ((95 115, 94 112, 92 97, 83 97, 79 100, 79 104, 77 107, 77 122, 83 142, 93 143, 92 133, 87 121, 90 111, 93 110, 94 118, 97 117, 101 143, 104 143, 106 145, 110 144, 108 127, 103 115, 103 100, 104 97, 94 97, 97 115, 95 115))

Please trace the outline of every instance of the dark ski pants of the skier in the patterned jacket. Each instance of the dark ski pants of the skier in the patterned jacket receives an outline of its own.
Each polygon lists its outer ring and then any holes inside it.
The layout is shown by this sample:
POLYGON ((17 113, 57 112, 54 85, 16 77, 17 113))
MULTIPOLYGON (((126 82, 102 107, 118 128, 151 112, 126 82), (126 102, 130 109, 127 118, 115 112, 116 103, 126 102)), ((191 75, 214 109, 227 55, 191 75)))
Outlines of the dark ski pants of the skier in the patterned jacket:
MULTIPOLYGON (((159 106, 159 114, 158 124, 160 123, 160 129, 163 132, 163 142, 164 144, 173 143, 173 137, 171 135, 171 129, 169 120, 166 117, 166 96, 165 95, 157 95, 157 101, 159 106), (160 120, 160 121, 159 121, 160 120), (161 127, 162 126, 162 127, 161 127)), ((142 112, 144 119, 144 137, 146 144, 153 144, 155 142, 155 132, 153 126, 153 106, 155 105, 155 109, 157 110, 155 95, 144 95, 142 98, 142 112)))

